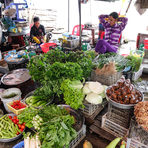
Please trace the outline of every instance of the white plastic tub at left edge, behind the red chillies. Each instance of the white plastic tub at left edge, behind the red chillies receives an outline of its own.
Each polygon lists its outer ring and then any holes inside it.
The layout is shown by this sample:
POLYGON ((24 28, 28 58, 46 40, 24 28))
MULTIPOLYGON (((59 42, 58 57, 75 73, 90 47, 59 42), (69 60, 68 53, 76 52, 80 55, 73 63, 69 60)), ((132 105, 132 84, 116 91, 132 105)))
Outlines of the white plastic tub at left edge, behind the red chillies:
POLYGON ((6 109, 7 112, 11 112, 8 107, 7 107, 7 103, 10 103, 14 100, 19 100, 21 99, 21 90, 19 88, 9 88, 3 91, 3 93, 1 94, 1 101, 4 104, 4 107, 6 109), (17 95, 15 97, 12 98, 4 98, 4 96, 6 95, 10 95, 11 93, 16 93, 17 95))

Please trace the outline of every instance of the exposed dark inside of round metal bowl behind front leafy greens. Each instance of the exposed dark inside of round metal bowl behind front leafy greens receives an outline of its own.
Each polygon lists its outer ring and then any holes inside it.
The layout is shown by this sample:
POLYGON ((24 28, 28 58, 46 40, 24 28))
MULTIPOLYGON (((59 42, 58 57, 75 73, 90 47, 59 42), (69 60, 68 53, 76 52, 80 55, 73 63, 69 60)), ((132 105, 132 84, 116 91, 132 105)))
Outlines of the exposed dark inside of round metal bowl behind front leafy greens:
POLYGON ((69 105, 64 105, 64 104, 58 106, 60 106, 61 108, 65 108, 70 113, 70 115, 74 117, 75 124, 73 125, 73 128, 77 132, 79 132, 82 129, 85 122, 85 118, 80 112, 80 110, 74 110, 69 105))

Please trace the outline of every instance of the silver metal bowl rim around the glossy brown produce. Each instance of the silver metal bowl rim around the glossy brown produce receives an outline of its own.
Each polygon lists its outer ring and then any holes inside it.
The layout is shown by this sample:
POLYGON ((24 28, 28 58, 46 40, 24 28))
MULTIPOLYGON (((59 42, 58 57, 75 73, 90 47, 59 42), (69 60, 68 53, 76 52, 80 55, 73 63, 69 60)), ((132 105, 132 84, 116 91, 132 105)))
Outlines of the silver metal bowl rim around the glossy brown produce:
MULTIPOLYGON (((117 107, 117 108, 120 108, 120 109, 131 109, 133 108, 136 104, 120 104, 120 103, 117 103, 115 101, 113 101, 112 99, 110 99, 107 94, 106 94, 106 91, 110 88, 111 86, 109 86, 106 90, 105 90, 105 95, 106 95, 106 99, 107 101, 112 104, 113 106, 117 107)), ((136 89, 137 90, 137 89, 136 89)), ((137 90, 139 91, 139 90, 137 90)), ((141 96, 142 96, 142 100, 141 101, 144 101, 144 96, 143 96, 143 93, 141 91, 139 91, 141 96)))

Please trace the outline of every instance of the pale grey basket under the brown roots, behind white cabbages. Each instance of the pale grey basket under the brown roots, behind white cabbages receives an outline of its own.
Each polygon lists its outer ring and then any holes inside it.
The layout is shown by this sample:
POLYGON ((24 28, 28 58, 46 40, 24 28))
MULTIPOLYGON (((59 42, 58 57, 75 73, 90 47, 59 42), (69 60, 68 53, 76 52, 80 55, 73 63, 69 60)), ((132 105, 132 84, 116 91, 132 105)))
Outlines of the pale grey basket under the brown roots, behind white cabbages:
POLYGON ((115 84, 122 76, 122 72, 117 72, 114 75, 109 75, 109 76, 105 76, 105 75, 96 75, 95 70, 92 71, 91 73, 91 80, 92 81, 98 81, 103 85, 113 85, 115 84))

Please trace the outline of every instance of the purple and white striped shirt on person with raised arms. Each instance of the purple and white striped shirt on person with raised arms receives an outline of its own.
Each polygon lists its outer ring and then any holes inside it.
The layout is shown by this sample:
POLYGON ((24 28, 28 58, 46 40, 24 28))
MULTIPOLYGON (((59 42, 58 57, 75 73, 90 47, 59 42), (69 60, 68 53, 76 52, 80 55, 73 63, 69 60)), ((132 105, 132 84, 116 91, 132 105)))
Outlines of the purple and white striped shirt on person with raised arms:
POLYGON ((105 20, 105 18, 108 18, 108 15, 101 15, 99 17, 100 23, 102 23, 104 29, 105 29, 105 40, 115 47, 116 49, 119 46, 119 38, 121 35, 121 32, 124 30, 128 19, 125 17, 119 17, 118 22, 114 25, 111 26, 109 22, 105 20))

